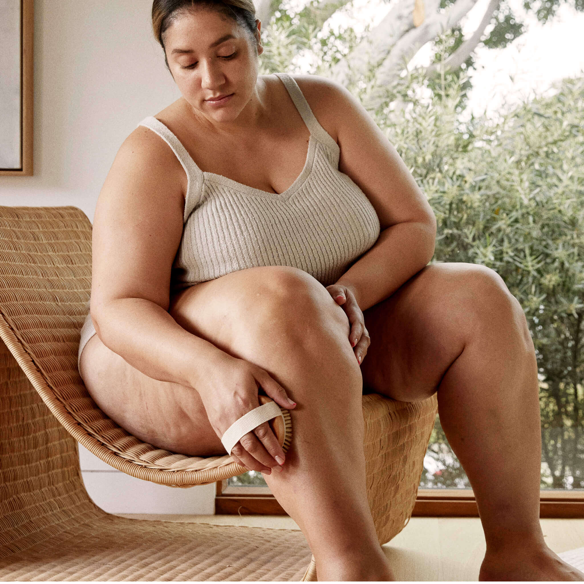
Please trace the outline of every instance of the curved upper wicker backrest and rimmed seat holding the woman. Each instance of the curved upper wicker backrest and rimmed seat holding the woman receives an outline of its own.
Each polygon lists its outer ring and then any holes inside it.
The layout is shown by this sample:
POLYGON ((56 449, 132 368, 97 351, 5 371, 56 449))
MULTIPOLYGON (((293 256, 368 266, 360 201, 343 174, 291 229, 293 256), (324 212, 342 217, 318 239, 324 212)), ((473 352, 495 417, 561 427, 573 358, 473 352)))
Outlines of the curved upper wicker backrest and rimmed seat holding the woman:
POLYGON ((67 432, 117 470, 183 488, 241 474, 231 456, 142 442, 89 395, 77 350, 91 294, 91 232, 77 207, 0 206, 0 338, 67 432))

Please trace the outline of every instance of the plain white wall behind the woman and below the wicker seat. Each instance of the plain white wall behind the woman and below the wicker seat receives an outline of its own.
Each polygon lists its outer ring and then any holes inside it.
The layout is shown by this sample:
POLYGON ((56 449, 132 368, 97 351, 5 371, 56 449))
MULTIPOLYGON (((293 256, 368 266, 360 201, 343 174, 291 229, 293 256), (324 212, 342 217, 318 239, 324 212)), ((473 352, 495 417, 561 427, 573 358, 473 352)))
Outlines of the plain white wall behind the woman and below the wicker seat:
MULTIPOLYGON (((93 221, 121 142, 180 96, 152 36, 151 6, 35 0, 34 176, 0 176, 0 205, 74 205, 93 221)), ((108 512, 214 513, 214 485, 155 485, 79 451, 89 495, 108 512)))

